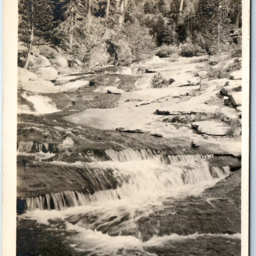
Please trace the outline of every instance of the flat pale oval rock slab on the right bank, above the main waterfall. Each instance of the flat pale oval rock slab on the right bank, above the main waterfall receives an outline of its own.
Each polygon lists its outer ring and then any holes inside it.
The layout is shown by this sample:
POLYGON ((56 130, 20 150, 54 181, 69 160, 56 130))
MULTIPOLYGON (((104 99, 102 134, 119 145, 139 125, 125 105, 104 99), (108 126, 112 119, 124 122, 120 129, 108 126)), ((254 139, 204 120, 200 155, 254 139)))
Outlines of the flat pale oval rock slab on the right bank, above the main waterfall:
POLYGON ((198 132, 208 135, 224 136, 230 131, 230 127, 220 121, 201 121, 194 122, 191 126, 198 132))

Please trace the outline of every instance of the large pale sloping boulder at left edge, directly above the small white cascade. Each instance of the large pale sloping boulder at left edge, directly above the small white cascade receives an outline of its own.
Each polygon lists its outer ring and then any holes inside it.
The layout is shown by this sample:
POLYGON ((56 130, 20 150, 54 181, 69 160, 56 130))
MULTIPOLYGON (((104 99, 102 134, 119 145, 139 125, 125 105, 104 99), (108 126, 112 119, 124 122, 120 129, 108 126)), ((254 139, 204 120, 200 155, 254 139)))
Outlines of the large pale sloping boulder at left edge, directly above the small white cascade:
POLYGON ((55 86, 50 81, 38 78, 24 68, 18 68, 18 88, 30 92, 55 92, 55 86))

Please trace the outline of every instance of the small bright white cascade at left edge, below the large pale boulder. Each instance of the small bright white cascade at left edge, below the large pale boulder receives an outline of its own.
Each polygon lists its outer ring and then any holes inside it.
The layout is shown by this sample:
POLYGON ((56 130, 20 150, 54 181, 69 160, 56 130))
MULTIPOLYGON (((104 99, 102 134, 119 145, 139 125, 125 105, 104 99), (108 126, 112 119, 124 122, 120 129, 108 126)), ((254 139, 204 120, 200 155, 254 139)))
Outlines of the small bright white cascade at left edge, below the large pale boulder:
POLYGON ((30 101, 37 114, 49 114, 60 111, 51 98, 43 95, 28 95, 26 92, 21 97, 30 101))

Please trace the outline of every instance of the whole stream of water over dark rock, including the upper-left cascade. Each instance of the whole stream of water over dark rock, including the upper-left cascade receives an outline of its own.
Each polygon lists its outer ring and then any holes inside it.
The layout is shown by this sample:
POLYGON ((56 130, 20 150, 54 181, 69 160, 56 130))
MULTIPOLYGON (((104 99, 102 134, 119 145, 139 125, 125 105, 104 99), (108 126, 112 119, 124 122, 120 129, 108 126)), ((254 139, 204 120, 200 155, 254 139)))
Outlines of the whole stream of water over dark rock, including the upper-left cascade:
MULTIPOLYGON (((155 57, 147 64, 162 61, 155 57)), ((139 75, 145 70, 118 72, 139 75)), ((26 244, 33 232, 39 232, 39 245, 29 255, 212 256, 227 255, 228 246, 231 255, 238 255, 232 246, 239 246, 241 234, 239 225, 232 225, 239 204, 234 208, 232 199, 218 193, 231 176, 228 163, 214 166, 211 160, 216 156, 191 149, 191 142, 185 149, 182 143, 172 147, 150 134, 97 133, 94 128, 64 124, 58 113, 39 119, 41 114, 61 112, 48 96, 21 94, 33 106, 23 114, 34 114, 20 123, 17 143, 18 192, 26 195, 18 198, 23 207, 17 215, 18 236, 20 241, 27 239, 26 244), (45 241, 46 247, 51 244, 55 249, 40 251, 45 241)), ((236 192, 230 191, 231 196, 236 192)), ((28 255, 22 246, 17 255, 28 255)))

